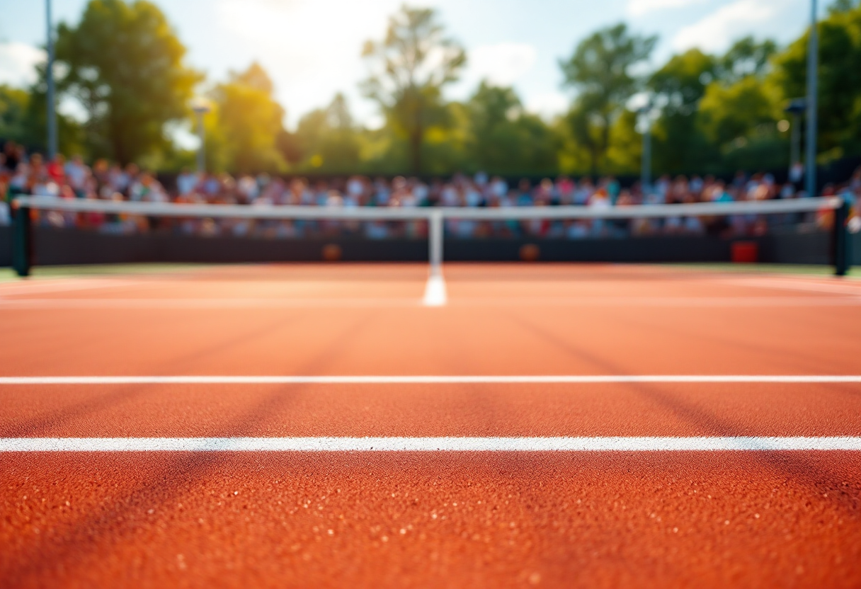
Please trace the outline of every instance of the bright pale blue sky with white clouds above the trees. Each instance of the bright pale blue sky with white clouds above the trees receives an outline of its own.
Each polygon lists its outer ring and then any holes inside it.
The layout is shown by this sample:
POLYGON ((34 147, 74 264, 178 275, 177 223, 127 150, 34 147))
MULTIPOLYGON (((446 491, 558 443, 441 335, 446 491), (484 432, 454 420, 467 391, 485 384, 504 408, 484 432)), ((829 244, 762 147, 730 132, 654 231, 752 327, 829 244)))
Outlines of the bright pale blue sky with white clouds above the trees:
MULTIPOLYGON (((402 0, 154 0, 188 47, 189 65, 207 84, 257 60, 276 84, 288 127, 344 92, 362 123, 381 117, 357 83, 367 76, 365 40, 381 39, 402 0)), ((54 22, 77 22, 87 0, 53 0, 54 22)), ((828 0, 820 4, 827 5, 828 0)), ((660 41, 651 66, 697 46, 719 53, 753 34, 786 44, 802 34, 810 0, 424 0, 449 36, 467 50, 468 65, 447 95, 467 98, 487 79, 513 85, 526 109, 552 117, 572 91, 561 86, 559 60, 598 28, 627 22, 660 41)), ((824 11, 825 7, 821 9, 824 11)), ((0 0, 0 84, 23 85, 44 60, 45 2, 0 0)), ((201 90, 205 90, 201 88, 201 90)))

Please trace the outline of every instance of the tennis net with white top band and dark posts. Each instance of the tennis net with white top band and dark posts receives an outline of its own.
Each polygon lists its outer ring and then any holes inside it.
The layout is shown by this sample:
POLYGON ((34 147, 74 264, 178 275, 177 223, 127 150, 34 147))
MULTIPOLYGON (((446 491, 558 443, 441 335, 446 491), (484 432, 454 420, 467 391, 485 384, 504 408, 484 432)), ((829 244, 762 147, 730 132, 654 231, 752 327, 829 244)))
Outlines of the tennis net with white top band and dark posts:
MULTIPOLYGON (((375 208, 19 196, 12 261, 447 260, 850 263, 840 197, 618 207, 375 208), (444 254, 443 254, 444 252, 444 254)), ((857 220, 857 218, 855 219, 857 220)), ((853 220, 853 221, 855 221, 853 220)))

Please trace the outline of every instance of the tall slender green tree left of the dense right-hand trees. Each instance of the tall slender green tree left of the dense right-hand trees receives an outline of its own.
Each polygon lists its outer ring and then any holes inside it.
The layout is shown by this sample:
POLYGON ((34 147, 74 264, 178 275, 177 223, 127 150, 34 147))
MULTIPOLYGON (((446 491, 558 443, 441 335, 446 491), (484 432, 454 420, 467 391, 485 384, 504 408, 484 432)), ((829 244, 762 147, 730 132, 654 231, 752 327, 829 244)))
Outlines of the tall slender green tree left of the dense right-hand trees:
POLYGON ((610 147, 613 122, 640 88, 632 69, 648 59, 657 40, 629 34, 620 23, 582 40, 570 59, 560 61, 565 85, 579 91, 567 119, 573 137, 589 150, 592 173, 610 147))

